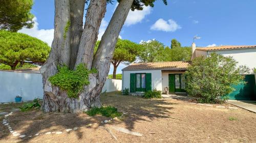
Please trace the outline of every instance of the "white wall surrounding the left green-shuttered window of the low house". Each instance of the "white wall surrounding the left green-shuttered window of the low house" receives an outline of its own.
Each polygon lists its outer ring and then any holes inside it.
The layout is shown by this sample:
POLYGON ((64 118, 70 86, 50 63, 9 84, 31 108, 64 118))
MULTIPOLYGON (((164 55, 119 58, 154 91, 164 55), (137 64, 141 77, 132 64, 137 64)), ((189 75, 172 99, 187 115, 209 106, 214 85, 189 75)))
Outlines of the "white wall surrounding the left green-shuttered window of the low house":
POLYGON ((130 90, 130 73, 151 73, 152 90, 156 88, 157 90, 162 91, 162 72, 161 72, 161 70, 123 71, 122 89, 129 88, 129 90, 130 90))

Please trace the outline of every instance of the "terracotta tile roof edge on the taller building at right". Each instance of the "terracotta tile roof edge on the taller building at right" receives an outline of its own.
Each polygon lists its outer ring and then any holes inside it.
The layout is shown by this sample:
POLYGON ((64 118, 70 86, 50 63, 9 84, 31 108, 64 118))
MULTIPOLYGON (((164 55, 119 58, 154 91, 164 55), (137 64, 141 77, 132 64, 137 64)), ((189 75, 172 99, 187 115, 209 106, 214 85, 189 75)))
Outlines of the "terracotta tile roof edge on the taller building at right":
POLYGON ((256 48, 256 45, 241 45, 241 46, 226 45, 226 46, 215 46, 215 47, 198 47, 196 48, 196 50, 214 51, 214 50, 244 49, 244 48, 256 48))

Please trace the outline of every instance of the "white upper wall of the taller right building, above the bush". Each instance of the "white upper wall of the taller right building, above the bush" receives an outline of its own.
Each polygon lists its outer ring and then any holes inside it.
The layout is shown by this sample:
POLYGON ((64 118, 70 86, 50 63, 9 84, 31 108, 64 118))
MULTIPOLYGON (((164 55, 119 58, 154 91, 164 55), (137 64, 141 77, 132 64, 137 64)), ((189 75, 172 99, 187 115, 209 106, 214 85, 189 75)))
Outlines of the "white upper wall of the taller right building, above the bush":
MULTIPOLYGON (((256 48, 209 51, 209 54, 211 52, 216 52, 224 56, 232 56, 238 62, 238 66, 244 65, 250 69, 256 68, 256 48)), ((200 55, 207 56, 207 51, 196 50, 196 56, 200 55)))

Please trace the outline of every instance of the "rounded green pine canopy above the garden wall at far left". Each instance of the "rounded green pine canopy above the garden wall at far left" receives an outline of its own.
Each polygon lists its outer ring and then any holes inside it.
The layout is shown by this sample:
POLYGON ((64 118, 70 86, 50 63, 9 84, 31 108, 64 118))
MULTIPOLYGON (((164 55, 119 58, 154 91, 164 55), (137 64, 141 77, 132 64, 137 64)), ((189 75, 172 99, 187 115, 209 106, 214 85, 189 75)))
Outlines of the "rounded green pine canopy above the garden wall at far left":
POLYGON ((0 30, 0 63, 15 70, 22 61, 44 63, 50 47, 47 43, 23 33, 0 30))

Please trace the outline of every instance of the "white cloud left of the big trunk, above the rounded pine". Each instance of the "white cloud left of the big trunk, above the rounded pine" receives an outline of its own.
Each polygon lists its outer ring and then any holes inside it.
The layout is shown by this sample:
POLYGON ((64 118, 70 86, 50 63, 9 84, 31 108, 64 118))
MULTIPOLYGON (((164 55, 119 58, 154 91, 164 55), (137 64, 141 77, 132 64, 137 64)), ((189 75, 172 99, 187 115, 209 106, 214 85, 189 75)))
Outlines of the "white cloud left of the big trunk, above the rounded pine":
POLYGON ((45 30, 45 29, 38 29, 38 22, 36 21, 36 17, 33 18, 34 26, 33 28, 22 28, 19 30, 19 33, 24 33, 30 35, 32 37, 38 38, 44 42, 46 42, 49 46, 52 45, 54 29, 45 30))

